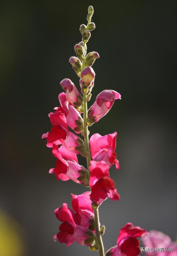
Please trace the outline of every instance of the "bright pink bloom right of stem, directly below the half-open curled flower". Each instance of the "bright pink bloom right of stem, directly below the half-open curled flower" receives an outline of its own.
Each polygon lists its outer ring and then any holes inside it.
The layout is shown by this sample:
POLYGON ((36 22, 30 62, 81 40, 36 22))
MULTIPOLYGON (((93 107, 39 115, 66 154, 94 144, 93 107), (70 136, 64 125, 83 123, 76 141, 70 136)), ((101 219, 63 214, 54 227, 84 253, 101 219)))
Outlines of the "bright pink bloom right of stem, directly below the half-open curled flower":
POLYGON ((119 169, 119 161, 116 159, 116 136, 117 132, 101 136, 95 133, 89 140, 90 152, 93 160, 105 161, 109 166, 116 164, 119 169))

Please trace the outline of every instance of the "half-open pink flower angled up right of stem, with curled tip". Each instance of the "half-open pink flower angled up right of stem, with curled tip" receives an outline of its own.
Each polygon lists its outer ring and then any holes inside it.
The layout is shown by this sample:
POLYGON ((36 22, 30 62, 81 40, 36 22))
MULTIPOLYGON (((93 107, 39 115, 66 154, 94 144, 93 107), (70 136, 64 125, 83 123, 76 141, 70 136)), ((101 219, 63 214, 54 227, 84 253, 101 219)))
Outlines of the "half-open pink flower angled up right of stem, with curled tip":
POLYGON ((108 113, 116 99, 121 99, 121 95, 114 90, 104 90, 96 97, 96 102, 88 111, 87 125, 98 122, 100 118, 108 113))

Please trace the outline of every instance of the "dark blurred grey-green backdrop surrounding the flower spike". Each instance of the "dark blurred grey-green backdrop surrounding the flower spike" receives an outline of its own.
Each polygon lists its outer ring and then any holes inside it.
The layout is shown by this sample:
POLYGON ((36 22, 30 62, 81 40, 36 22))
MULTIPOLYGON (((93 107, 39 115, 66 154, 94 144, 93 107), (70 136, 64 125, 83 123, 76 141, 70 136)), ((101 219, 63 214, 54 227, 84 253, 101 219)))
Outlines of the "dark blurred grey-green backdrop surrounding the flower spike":
MULTIPOLYGON (((110 173, 121 200, 100 207, 104 246, 116 245, 127 222, 176 239, 176 1, 1 1, 0 207, 21 226, 25 249, 17 256, 93 254, 53 242, 60 225, 53 211, 63 202, 71 206, 70 194, 85 187, 48 174, 55 158, 41 140, 63 91, 60 81, 70 78, 79 88, 69 58, 89 5, 96 29, 88 52, 100 54, 89 106, 102 90, 122 95, 90 128, 118 133, 120 170, 110 173)), ((14 237, 6 238, 10 246, 14 237)))

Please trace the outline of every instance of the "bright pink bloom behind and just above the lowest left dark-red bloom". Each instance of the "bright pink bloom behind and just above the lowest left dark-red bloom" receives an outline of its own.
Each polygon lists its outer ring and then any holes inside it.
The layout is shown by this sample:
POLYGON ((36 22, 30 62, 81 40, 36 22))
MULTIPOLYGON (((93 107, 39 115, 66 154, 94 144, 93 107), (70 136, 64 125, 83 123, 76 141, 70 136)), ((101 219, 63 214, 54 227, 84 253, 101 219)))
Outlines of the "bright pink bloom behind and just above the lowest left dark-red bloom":
POLYGON ((81 195, 72 195, 72 207, 76 212, 76 216, 81 224, 86 228, 89 227, 89 219, 94 215, 94 211, 92 208, 92 201, 90 200, 91 192, 85 192, 81 195))

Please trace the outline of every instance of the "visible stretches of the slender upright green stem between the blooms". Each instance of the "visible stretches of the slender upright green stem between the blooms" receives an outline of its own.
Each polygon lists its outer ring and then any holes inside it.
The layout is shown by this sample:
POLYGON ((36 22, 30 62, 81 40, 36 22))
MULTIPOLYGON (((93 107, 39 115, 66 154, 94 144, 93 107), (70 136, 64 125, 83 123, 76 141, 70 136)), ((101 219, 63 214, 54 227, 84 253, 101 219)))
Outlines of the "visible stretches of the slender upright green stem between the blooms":
MULTIPOLYGON (((85 43, 83 46, 85 48, 85 43)), ((82 61, 82 70, 84 69, 84 67, 85 67, 85 57, 84 57, 84 60, 82 61)), ((84 140, 85 140, 85 149, 89 152, 87 156, 87 167, 88 167, 88 174, 90 176, 89 167, 90 167, 91 156, 90 156, 90 148, 89 148, 88 126, 86 124, 87 122, 87 94, 86 93, 83 94, 83 103, 84 103, 84 140)), ((98 250, 99 250, 100 256, 104 256, 104 246, 103 246, 103 241, 100 234, 100 220, 99 220, 98 208, 94 210, 94 216, 95 216, 95 229, 96 229, 98 250)))

